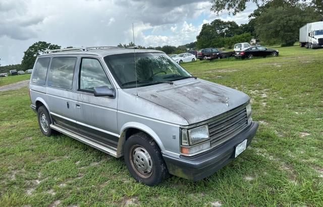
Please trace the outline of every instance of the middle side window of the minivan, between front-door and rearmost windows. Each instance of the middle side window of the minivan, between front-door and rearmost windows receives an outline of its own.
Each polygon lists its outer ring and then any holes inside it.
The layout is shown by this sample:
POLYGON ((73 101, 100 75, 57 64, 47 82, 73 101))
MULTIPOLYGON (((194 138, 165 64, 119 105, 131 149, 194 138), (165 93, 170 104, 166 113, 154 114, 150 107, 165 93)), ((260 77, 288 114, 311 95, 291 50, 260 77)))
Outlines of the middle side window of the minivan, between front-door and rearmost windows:
POLYGON ((48 86, 72 89, 76 57, 54 57, 48 73, 48 86))

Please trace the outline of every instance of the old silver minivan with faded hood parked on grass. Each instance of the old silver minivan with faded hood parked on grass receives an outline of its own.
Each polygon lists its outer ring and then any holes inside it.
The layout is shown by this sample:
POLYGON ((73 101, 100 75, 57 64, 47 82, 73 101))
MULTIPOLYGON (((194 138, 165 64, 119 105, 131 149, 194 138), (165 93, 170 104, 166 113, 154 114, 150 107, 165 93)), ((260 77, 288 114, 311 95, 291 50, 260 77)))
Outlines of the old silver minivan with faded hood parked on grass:
POLYGON ((29 92, 43 134, 124 157, 146 185, 213 174, 258 128, 246 94, 198 79, 157 50, 48 51, 36 59, 29 92))

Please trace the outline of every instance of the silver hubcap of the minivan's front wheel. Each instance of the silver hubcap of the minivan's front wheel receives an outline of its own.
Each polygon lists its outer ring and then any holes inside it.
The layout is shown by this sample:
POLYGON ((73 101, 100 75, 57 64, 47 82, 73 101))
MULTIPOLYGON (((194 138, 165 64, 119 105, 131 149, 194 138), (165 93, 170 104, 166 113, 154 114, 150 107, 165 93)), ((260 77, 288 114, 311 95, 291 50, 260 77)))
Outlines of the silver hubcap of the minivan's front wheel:
POLYGON ((132 163, 142 177, 149 177, 152 173, 152 160, 146 149, 136 146, 132 150, 132 163))

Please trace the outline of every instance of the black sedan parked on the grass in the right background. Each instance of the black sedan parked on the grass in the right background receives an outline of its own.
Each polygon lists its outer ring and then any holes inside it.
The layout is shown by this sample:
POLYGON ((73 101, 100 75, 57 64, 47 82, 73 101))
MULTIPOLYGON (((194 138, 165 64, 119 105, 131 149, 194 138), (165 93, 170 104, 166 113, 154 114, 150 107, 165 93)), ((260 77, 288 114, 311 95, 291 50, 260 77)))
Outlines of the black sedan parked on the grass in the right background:
POLYGON ((272 55, 274 57, 278 56, 279 52, 277 49, 268 49, 263 46, 252 46, 246 49, 237 51, 234 55, 236 58, 248 58, 251 59, 253 57, 265 57, 268 55, 272 55))

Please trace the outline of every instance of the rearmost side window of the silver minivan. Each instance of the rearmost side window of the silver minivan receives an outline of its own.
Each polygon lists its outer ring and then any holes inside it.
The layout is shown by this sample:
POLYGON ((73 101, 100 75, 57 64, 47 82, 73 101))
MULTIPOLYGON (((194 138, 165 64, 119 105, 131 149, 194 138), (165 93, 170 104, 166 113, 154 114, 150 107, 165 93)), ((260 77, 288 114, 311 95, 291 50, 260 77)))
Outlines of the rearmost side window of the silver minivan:
POLYGON ((44 85, 46 83, 46 75, 50 58, 39 58, 35 64, 32 82, 44 85))

